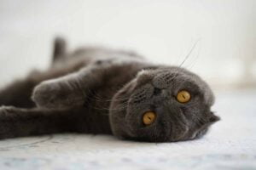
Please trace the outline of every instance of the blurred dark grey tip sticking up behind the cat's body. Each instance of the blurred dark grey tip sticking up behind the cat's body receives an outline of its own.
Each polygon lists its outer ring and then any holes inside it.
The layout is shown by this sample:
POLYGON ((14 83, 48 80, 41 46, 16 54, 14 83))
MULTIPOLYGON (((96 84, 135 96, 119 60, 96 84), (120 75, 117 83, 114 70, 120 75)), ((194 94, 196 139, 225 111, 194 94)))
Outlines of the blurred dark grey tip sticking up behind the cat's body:
POLYGON ((58 60, 66 54, 67 43, 63 37, 55 37, 54 51, 53 51, 53 62, 58 60))

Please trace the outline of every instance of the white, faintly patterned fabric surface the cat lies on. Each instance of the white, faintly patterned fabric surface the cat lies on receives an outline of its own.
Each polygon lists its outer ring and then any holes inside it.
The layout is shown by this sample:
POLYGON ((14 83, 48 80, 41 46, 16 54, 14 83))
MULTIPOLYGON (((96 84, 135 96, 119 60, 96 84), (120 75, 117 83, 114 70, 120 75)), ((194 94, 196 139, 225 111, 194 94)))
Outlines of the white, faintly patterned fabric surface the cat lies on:
POLYGON ((256 91, 217 94, 222 120, 202 139, 138 143, 57 134, 0 141, 0 169, 256 169, 256 91))

